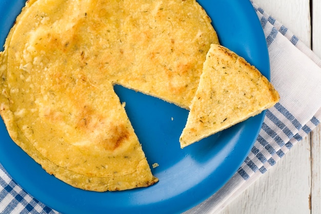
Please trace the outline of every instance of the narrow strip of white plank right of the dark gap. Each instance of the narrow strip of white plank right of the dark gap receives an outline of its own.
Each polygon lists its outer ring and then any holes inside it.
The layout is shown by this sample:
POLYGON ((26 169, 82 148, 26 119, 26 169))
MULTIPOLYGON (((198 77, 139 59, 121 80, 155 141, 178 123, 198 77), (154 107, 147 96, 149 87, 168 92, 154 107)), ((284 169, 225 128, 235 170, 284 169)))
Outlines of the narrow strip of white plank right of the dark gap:
MULTIPOLYGON (((321 2, 313 1, 312 7, 312 50, 321 57, 321 2)), ((321 128, 320 125, 312 131, 311 139, 311 214, 321 213, 321 128)))

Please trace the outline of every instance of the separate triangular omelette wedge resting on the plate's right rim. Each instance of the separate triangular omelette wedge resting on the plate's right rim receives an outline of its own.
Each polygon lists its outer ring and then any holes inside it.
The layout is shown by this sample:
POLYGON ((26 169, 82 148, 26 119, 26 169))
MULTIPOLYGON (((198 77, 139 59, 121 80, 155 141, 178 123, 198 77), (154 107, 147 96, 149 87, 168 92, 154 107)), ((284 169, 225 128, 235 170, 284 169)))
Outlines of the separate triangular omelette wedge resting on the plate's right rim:
POLYGON ((272 107, 279 94, 254 66, 227 48, 212 44, 187 123, 186 147, 272 107))

